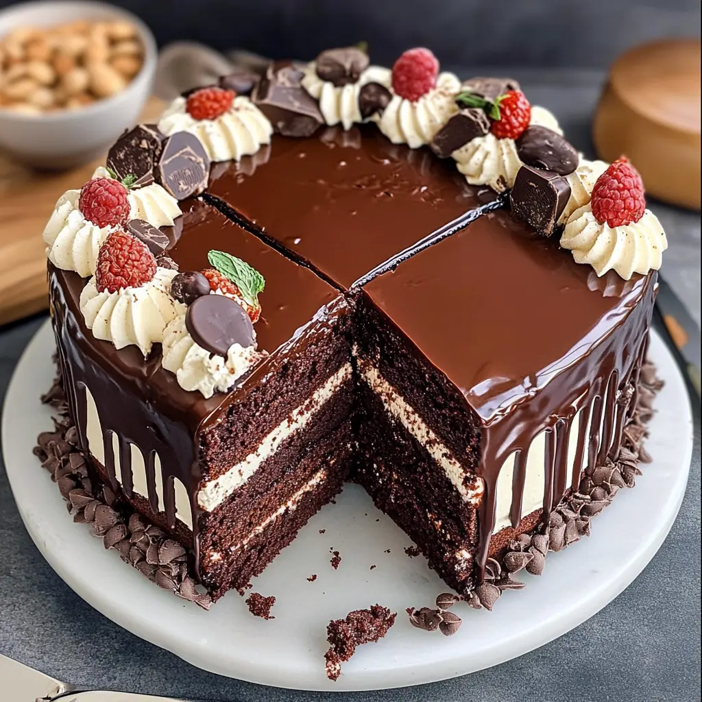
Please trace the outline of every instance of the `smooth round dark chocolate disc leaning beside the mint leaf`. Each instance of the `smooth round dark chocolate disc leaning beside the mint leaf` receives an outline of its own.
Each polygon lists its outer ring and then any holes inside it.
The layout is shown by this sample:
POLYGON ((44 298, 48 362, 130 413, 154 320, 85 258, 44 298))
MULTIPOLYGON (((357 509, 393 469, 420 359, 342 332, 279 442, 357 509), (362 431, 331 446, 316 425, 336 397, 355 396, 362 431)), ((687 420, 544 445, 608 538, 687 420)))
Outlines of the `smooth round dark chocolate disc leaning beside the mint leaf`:
POLYGON ((227 357, 232 344, 253 345, 253 324, 244 308, 224 295, 204 295, 187 308, 185 328, 195 343, 227 357))

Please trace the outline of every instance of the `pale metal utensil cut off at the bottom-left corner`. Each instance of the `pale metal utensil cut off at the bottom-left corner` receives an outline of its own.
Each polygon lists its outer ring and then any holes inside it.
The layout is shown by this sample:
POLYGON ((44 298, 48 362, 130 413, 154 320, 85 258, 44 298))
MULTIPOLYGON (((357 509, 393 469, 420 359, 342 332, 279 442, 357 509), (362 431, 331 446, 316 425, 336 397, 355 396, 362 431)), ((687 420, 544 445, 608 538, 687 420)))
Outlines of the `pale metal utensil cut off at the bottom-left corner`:
POLYGON ((110 690, 79 691, 55 677, 0 654, 3 702, 185 702, 173 697, 110 690))

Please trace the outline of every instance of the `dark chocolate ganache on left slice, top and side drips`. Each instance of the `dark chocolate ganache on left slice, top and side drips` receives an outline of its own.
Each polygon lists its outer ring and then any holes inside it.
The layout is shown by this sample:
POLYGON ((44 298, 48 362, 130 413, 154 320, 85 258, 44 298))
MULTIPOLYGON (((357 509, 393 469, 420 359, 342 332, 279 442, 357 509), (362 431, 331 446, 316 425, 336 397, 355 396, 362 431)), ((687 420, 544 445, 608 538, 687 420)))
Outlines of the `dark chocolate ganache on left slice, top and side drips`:
MULTIPOLYGON (((270 355, 242 378, 235 392, 205 399, 199 392, 180 388, 176 376, 161 368, 159 347, 154 347, 145 360, 136 347, 117 350, 111 343, 96 339, 86 328, 79 309, 86 280, 78 274, 58 270, 50 263, 49 289, 59 361, 82 448, 88 449, 88 388, 100 416, 104 467, 113 489, 119 488, 114 434, 121 465, 119 482, 128 498, 133 497, 130 444, 144 456, 152 518, 159 512, 158 456, 165 507, 163 522, 169 528, 177 526, 173 478, 183 482, 190 496, 197 561, 196 496, 199 483, 208 477, 199 461, 201 432, 216 423, 232 403, 246 402, 251 390, 265 383, 282 364, 294 363, 309 343, 330 333, 333 319, 345 314, 345 305, 343 300, 336 300, 338 293, 310 270, 285 258, 201 201, 192 203, 176 227, 168 230, 168 236, 168 253, 180 270, 208 267, 207 252, 220 249, 246 260, 266 279, 265 291, 259 296, 262 316, 256 324, 256 334, 259 350, 270 355)), ((264 435, 270 428, 260 424, 264 435)), ((182 528, 176 532, 184 533, 182 528)))

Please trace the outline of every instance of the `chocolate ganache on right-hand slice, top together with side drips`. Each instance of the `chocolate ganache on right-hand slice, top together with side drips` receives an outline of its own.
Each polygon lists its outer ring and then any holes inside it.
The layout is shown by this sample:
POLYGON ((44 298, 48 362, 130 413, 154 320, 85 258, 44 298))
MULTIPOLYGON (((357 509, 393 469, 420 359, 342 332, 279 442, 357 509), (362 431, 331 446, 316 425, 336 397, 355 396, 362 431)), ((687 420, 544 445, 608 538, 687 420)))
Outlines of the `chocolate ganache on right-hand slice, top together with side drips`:
POLYGON ((365 284, 366 296, 445 374, 482 427, 479 461, 466 465, 485 488, 479 581, 495 525, 498 475, 512 453, 510 517, 517 528, 529 446, 541 432, 545 520, 566 489, 577 489, 581 469, 591 472, 618 452, 656 280, 656 272, 630 281, 614 272, 598 278, 555 241, 496 212, 365 284), (576 415, 575 468, 567 475, 576 415))

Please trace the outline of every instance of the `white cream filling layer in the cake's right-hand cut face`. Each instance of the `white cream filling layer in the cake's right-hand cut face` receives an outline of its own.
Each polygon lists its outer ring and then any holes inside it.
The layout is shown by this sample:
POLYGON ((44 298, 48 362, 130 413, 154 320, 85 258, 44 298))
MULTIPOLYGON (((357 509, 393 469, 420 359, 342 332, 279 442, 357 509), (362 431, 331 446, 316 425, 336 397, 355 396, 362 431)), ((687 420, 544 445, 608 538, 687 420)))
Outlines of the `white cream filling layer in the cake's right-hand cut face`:
POLYGON ((378 395, 390 416, 399 421, 424 446, 429 455, 442 468, 451 484, 458 490, 458 493, 463 496, 463 499, 477 505, 484 491, 482 479, 472 476, 472 473, 465 470, 461 463, 456 461, 448 446, 442 443, 441 439, 423 422, 404 397, 380 375, 380 371, 375 366, 359 359, 359 370, 361 377, 378 395), (466 475, 472 476, 472 482, 468 485, 464 483, 466 475))

